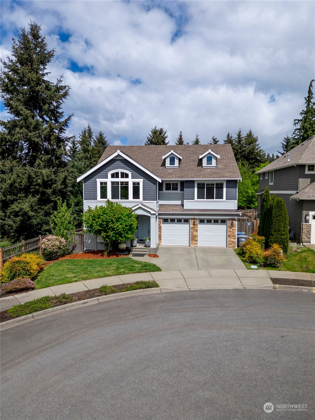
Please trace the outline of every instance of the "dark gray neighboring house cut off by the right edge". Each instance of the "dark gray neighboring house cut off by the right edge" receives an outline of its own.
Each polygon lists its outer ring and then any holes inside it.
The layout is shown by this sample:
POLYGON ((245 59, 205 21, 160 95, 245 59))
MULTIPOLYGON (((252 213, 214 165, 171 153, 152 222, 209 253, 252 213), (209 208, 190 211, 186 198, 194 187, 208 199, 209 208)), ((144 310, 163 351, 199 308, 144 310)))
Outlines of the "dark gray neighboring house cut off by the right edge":
POLYGON ((260 175, 258 216, 268 186, 271 195, 286 203, 290 233, 298 241, 315 244, 315 136, 256 173, 260 175))

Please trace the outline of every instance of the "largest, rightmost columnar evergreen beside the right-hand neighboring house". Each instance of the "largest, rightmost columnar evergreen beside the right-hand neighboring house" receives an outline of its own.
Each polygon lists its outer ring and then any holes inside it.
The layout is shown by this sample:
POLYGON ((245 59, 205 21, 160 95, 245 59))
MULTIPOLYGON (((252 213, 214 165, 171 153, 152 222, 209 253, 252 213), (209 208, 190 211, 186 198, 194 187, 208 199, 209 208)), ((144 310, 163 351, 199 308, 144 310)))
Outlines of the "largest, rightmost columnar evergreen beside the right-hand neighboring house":
POLYGON ((289 216, 286 205, 281 197, 275 197, 272 204, 268 247, 278 244, 283 254, 287 254, 289 249, 289 216))

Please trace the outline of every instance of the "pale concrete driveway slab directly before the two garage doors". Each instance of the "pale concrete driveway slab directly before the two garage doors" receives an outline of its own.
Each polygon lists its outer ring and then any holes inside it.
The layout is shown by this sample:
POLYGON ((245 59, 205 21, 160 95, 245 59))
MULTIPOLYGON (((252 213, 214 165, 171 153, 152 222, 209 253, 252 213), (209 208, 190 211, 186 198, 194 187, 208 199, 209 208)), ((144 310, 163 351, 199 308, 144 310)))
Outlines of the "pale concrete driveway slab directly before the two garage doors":
MULTIPOLYGON (((225 247, 159 247, 152 258, 164 270, 246 270, 234 249, 225 247)), ((138 258, 139 260, 141 257, 138 258)), ((149 258, 148 258, 149 260, 149 258)))

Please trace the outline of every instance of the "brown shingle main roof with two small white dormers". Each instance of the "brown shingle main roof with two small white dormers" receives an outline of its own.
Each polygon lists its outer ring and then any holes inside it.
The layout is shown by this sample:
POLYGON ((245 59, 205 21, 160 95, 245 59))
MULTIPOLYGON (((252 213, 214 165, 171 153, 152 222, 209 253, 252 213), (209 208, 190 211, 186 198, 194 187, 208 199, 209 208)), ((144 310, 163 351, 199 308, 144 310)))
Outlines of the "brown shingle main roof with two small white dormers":
MULTIPOLYGON (((202 168, 199 156, 209 150, 208 144, 174 144, 171 147, 182 157, 178 168, 165 168, 162 157, 170 151, 169 145, 119 146, 119 149, 121 153, 129 157, 129 160, 141 163, 147 171, 161 179, 241 179, 231 144, 211 145, 212 151, 220 155, 216 168, 202 168)), ((108 160, 116 151, 117 146, 106 147, 97 166, 104 160, 108 160)))

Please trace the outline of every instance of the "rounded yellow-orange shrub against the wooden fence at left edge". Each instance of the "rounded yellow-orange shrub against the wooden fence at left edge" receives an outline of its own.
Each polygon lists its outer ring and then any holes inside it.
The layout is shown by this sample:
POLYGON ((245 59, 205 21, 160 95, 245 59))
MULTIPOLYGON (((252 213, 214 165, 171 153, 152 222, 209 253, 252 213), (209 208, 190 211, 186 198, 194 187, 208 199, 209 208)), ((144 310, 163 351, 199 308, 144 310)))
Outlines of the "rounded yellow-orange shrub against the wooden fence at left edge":
POLYGON ((43 265, 44 260, 39 255, 23 254, 12 257, 3 265, 0 281, 1 283, 8 283, 8 281, 20 277, 33 278, 43 265))

